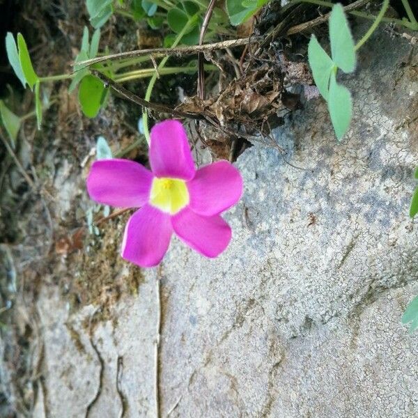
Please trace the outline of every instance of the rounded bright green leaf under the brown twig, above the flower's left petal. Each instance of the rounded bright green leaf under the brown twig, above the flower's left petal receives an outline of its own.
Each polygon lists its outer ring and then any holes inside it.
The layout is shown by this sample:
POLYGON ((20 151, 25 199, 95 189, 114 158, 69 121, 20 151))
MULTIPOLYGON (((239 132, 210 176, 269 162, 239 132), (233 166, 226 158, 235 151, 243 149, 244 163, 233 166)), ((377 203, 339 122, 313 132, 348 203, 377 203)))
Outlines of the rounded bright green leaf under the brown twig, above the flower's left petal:
POLYGON ((79 86, 79 102, 82 111, 88 118, 94 118, 106 98, 107 88, 98 77, 88 74, 79 86))

